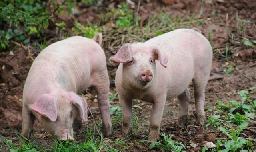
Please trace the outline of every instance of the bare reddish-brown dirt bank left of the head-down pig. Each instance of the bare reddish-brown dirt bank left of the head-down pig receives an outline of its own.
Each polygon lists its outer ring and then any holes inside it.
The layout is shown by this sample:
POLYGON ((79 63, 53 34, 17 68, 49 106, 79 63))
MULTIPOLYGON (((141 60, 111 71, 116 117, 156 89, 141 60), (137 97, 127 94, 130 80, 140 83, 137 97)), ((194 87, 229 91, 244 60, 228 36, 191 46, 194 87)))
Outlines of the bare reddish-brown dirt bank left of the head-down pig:
POLYGON ((22 91, 32 64, 27 53, 14 50, 0 53, 0 129, 22 124, 22 91))

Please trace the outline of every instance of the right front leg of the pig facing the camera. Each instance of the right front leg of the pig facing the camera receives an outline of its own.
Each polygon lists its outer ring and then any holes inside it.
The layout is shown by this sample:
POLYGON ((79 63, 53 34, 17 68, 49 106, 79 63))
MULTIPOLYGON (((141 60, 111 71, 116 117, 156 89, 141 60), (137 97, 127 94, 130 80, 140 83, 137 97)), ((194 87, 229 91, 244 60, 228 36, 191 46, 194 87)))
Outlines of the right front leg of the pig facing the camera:
POLYGON ((158 99, 154 102, 153 111, 150 118, 150 132, 148 140, 155 142, 159 139, 160 124, 164 112, 166 97, 164 99, 158 99))

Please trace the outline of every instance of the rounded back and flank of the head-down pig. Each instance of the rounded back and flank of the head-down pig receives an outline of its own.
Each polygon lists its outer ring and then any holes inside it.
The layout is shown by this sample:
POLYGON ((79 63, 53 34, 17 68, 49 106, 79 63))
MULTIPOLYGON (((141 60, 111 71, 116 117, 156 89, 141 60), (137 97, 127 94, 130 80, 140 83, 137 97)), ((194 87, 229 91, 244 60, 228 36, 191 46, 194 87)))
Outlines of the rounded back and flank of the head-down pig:
POLYGON ((104 68, 102 64, 106 66, 105 54, 91 39, 75 36, 53 43, 34 60, 24 86, 24 96, 26 92, 42 94, 58 88, 83 92, 90 86, 90 75, 96 66, 104 68))

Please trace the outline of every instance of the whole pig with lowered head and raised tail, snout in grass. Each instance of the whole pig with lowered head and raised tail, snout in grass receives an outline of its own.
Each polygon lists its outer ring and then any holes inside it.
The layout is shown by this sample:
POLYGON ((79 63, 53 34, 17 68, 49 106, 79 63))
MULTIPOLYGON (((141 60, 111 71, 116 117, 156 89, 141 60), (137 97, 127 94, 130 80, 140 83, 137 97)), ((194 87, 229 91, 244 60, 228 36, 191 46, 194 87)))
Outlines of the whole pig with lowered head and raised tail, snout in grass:
MULTIPOLYGON (((74 140, 82 120, 87 121, 87 104, 78 96, 93 86, 98 94, 102 129, 112 134, 108 101, 109 78, 104 51, 93 40, 74 36, 46 47, 34 60, 23 90, 22 135, 30 137, 35 117, 60 140, 74 140)), ((21 144, 21 143, 20 143, 21 144)))

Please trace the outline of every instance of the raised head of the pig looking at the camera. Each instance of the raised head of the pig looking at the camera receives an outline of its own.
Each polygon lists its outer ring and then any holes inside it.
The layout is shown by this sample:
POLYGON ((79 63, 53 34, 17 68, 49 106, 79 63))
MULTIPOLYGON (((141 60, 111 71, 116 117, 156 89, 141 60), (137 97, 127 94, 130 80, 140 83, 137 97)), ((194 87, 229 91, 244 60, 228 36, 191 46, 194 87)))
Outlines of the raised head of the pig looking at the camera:
POLYGON ((114 65, 122 64, 123 76, 132 83, 132 86, 144 89, 152 84, 154 76, 157 75, 156 60, 166 68, 168 58, 157 47, 145 46, 141 43, 125 44, 115 56, 110 57, 110 62, 114 65))

